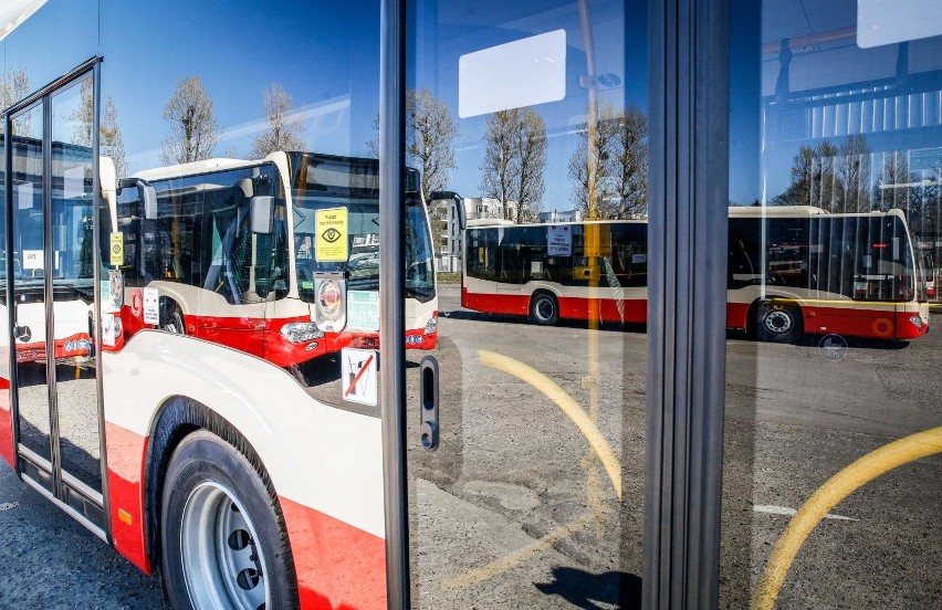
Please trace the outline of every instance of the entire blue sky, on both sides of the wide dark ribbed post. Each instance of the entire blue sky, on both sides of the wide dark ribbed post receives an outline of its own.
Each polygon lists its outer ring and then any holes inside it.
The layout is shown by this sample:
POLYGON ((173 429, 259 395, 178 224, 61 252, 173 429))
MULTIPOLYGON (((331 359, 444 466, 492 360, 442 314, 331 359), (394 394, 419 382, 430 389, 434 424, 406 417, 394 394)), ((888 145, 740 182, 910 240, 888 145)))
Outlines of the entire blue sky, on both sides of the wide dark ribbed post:
MULTIPOLYGON (((831 8, 809 4, 814 10, 797 12, 787 3, 764 6, 778 12, 760 15, 758 4, 751 2, 736 3, 732 12, 730 199, 735 203, 771 200, 787 188, 791 158, 800 144, 779 147, 761 167, 761 104, 774 87, 778 63, 775 55, 760 56, 755 49, 779 36, 847 27, 855 19, 849 0, 831 8)), ((34 90, 101 55, 102 97, 117 107, 130 171, 161 165, 161 143, 169 129, 164 108, 177 83, 189 76, 199 76, 212 98, 222 130, 217 156, 248 157, 253 136, 264 126, 262 92, 273 83, 292 96, 304 117, 308 149, 367 156, 379 105, 379 1, 271 7, 223 0, 51 0, 0 42, 0 55, 6 70, 27 69, 34 90), (35 44, 43 35, 53 42, 35 44)), ((585 120, 587 49, 596 73, 605 75, 597 95, 619 108, 634 104, 647 111, 647 2, 589 0, 588 7, 590 45, 575 0, 409 3, 407 86, 431 90, 459 124, 451 190, 481 194, 486 117, 458 118, 462 56, 547 32, 565 33, 564 96, 533 106, 546 120, 550 138, 544 210, 573 206, 567 164, 585 120)), ((852 42, 841 45, 820 54, 798 50, 793 86, 892 75, 896 45, 867 53, 852 42)), ((939 39, 915 42, 910 62, 917 70, 938 69, 939 48, 939 39), (917 65, 927 59, 933 65, 917 65)), ((481 95, 489 93, 485 88, 481 95)))

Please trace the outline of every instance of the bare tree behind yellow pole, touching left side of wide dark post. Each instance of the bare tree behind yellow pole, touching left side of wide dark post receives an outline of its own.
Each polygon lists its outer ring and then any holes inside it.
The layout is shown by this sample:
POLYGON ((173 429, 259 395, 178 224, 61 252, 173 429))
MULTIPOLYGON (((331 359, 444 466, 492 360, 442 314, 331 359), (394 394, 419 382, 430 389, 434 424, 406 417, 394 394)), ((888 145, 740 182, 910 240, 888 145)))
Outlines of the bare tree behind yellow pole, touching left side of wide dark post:
POLYGON ((572 200, 587 218, 627 219, 648 209, 648 120, 636 106, 607 102, 588 109, 569 158, 572 200))

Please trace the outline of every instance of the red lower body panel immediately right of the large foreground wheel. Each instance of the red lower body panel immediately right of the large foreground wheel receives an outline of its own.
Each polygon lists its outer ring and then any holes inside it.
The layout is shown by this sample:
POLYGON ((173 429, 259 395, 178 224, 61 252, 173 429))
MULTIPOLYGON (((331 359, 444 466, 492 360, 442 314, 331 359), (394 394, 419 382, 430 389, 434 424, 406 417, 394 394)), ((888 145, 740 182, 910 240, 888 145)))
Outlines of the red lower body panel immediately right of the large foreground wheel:
POLYGON ((279 497, 304 609, 385 609, 386 541, 279 497))

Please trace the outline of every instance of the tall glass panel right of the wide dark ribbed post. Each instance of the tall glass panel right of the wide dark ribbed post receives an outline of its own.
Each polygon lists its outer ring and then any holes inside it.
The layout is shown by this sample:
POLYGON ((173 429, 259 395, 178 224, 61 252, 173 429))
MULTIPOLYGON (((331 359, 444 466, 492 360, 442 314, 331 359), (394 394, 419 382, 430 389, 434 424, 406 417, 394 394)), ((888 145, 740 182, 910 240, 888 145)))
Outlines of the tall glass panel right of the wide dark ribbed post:
POLYGON ((942 29, 732 18, 721 606, 935 607, 942 29))

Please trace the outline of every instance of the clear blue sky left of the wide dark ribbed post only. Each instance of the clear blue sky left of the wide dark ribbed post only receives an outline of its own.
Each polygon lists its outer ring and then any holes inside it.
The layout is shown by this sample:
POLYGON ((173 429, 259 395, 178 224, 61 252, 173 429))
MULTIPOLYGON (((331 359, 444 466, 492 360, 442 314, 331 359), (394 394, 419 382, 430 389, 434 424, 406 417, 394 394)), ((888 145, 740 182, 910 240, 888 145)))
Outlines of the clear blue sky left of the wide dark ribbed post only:
MULTIPOLYGON (((598 73, 614 75, 599 95, 616 106, 647 104, 647 29, 643 2, 593 1, 598 73), (640 18, 638 17, 640 14, 640 18)), ((566 33, 566 95, 537 104, 550 136, 544 209, 569 209, 569 156, 585 117, 586 56, 574 1, 506 4, 418 2, 410 27, 408 85, 430 88, 458 119, 461 55, 554 30, 566 33), (449 6, 450 4, 450 6, 449 6), (477 10, 475 10, 477 7, 477 10), (547 8, 550 7, 550 8, 547 8)), ((130 171, 160 165, 168 133, 163 114, 177 83, 199 76, 222 129, 216 156, 245 158, 263 125, 262 91, 279 83, 305 117, 312 150, 366 156, 379 104, 379 2, 102 2, 52 0, 2 45, 7 70, 25 67, 33 88, 98 54, 102 99, 117 108, 130 171), (290 8, 287 8, 290 7, 290 8), (36 45, 40 32, 55 44, 36 45)), ((480 194, 485 117, 459 120, 458 167, 451 189, 480 194)))

